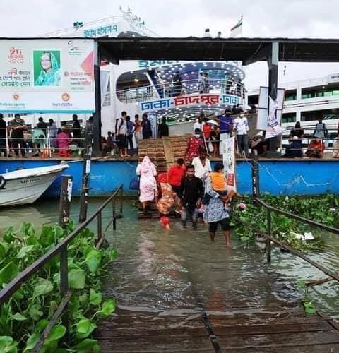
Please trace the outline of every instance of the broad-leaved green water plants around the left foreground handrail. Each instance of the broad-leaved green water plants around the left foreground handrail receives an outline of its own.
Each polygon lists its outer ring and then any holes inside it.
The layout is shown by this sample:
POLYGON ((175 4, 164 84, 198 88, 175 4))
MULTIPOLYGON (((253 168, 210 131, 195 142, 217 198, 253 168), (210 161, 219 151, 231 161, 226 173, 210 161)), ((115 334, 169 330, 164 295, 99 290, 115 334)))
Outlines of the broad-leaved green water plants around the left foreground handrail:
MULTIPOLYGON (((73 222, 67 229, 59 225, 43 226, 35 233, 31 223, 25 222, 19 234, 9 227, 0 239, 0 286, 6 287, 18 273, 37 258, 52 249, 74 229, 73 222)), ((95 237, 84 229, 68 247, 69 287, 73 294, 66 313, 69 316, 69 332, 61 319, 54 325, 40 352, 100 352, 93 331, 97 321, 114 312, 114 299, 102 299, 102 278, 107 265, 117 258, 117 251, 95 249, 95 237)), ((29 353, 47 327, 60 295, 59 256, 25 282, 0 308, 0 352, 29 353)))

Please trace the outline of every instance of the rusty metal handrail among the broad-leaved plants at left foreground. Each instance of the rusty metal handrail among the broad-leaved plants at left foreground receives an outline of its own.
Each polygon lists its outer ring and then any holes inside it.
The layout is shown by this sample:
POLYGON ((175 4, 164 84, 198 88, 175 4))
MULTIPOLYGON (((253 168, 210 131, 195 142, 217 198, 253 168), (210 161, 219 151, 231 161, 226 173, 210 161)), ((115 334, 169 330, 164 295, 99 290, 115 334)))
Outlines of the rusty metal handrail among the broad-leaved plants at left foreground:
MULTIPOLYGON (((46 340, 49 332, 52 330, 53 326, 57 323, 61 314, 63 313, 64 309, 66 308, 69 299, 71 298, 72 291, 69 288, 68 282, 68 246, 70 242, 75 239, 80 232, 87 227, 90 222, 93 220, 97 220, 97 241, 96 241, 96 248, 99 249, 102 245, 102 242, 105 240, 105 234, 109 227, 113 225, 113 230, 117 229, 117 217, 119 217, 117 213, 117 205, 116 205, 116 198, 119 197, 120 203, 120 214, 123 212, 123 193, 124 193, 124 186, 120 184, 116 191, 110 196, 107 201, 102 203, 102 205, 88 217, 85 222, 78 225, 76 229, 73 230, 70 234, 68 234, 63 240, 59 242, 53 249, 49 250, 44 256, 38 258, 34 263, 25 268, 16 278, 14 278, 11 282, 6 285, 4 289, 0 291, 0 305, 4 304, 8 299, 10 299, 13 294, 19 289, 21 285, 25 282, 28 282, 30 278, 37 273, 44 265, 46 265, 49 261, 53 258, 60 256, 60 292, 61 292, 61 303, 59 304, 57 310, 54 312, 49 324, 44 329, 42 335, 40 336, 40 340, 35 345, 32 352, 40 352, 42 345, 44 344, 44 340, 46 340), (112 218, 102 230, 102 211, 105 210, 107 205, 112 204, 112 218)), ((66 325, 68 320, 66 321, 66 325)))

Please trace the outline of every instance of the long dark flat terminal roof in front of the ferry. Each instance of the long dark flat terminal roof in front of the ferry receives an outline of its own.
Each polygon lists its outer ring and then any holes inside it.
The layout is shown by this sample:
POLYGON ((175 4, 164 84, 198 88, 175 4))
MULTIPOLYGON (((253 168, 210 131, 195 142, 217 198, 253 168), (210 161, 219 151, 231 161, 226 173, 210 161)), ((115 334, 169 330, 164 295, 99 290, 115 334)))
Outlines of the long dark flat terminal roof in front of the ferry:
POLYGON ((339 40, 309 38, 100 38, 102 59, 234 60, 243 64, 267 60, 272 42, 279 43, 279 61, 339 61, 339 40))

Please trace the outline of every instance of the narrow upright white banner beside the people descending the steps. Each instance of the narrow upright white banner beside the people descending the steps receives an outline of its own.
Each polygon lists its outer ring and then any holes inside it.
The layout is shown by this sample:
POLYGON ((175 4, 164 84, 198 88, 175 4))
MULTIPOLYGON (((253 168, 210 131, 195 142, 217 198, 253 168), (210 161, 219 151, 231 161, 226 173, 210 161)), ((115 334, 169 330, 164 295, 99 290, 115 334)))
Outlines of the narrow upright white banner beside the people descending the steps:
POLYGON ((222 154, 222 162, 224 164, 226 184, 237 192, 234 136, 220 141, 220 153, 222 154))

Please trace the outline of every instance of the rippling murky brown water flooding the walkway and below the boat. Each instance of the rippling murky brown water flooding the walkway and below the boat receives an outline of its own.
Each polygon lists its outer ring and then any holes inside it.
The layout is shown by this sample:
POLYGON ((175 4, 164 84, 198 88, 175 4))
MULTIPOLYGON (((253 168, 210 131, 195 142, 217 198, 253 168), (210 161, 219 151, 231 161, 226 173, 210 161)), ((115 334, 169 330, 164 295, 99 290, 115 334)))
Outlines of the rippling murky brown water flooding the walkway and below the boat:
MULTIPOLYGON (((91 198, 88 215, 104 199, 91 198)), ((0 234, 9 225, 19 227, 33 222, 38 229, 44 223, 57 222, 57 201, 40 201, 34 206, 0 210, 0 234)), ((108 207, 102 213, 107 222, 108 207)), ((71 205, 71 217, 78 220, 78 199, 71 205)), ((290 253, 273 250, 272 263, 254 244, 244 245, 232 236, 232 248, 225 247, 219 231, 215 243, 208 238, 207 226, 198 231, 183 230, 179 220, 165 231, 157 220, 137 220, 132 202, 124 203, 124 218, 117 220, 117 231, 108 231, 109 243, 119 251, 105 282, 105 294, 117 297, 119 306, 129 310, 191 311, 202 307, 209 311, 275 311, 300 299, 297 280, 317 280, 323 275, 290 253)), ((96 222, 91 224, 95 229, 96 222)), ((339 241, 323 234, 329 244, 323 253, 309 257, 337 271, 339 241)), ((318 309, 339 316, 338 285, 327 282, 311 290, 318 309)))

